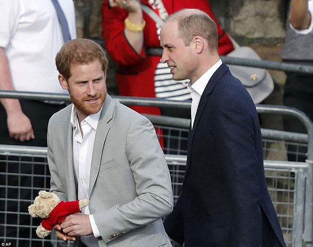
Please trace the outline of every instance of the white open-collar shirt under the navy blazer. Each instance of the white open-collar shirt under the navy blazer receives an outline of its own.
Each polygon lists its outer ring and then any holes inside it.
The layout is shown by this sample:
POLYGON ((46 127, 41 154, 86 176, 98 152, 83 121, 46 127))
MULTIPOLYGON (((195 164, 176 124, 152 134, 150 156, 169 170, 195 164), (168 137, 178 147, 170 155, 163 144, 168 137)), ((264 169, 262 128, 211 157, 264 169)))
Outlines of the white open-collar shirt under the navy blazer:
POLYGON ((196 80, 193 84, 188 83, 188 88, 190 90, 190 96, 192 98, 191 102, 191 128, 194 125, 195 117, 198 109, 198 105, 203 94, 203 91, 212 77, 212 75, 217 71, 217 69, 222 65, 222 60, 217 61, 207 72, 201 75, 201 77, 196 80))

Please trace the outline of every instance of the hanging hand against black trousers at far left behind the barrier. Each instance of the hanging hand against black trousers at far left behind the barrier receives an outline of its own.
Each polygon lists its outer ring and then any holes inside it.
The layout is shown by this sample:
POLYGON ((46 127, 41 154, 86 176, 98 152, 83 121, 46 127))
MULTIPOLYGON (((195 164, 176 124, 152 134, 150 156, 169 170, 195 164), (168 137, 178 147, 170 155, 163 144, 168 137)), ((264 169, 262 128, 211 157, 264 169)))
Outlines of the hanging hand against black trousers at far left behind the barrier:
POLYGON ((8 114, 7 125, 10 137, 15 140, 24 142, 35 139, 30 120, 22 111, 8 114))

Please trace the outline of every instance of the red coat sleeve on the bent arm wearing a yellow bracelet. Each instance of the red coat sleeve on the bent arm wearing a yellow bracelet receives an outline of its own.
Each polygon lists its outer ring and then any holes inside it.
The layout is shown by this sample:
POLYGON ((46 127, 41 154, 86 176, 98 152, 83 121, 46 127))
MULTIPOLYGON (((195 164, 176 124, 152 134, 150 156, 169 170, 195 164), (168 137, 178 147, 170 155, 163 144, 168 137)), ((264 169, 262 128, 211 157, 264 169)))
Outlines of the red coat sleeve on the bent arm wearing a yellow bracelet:
POLYGON ((112 59, 120 65, 133 65, 145 58, 145 49, 138 54, 128 43, 124 34, 124 20, 127 11, 113 7, 109 8, 108 0, 102 4, 102 36, 112 59))

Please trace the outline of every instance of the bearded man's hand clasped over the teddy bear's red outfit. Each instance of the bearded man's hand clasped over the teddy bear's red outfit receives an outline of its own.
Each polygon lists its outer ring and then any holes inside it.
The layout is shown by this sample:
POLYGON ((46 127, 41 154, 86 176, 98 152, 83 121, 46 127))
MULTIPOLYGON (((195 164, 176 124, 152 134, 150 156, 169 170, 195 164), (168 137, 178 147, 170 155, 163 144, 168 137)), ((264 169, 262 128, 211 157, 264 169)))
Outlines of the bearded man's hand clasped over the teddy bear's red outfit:
POLYGON ((61 228, 68 236, 86 236, 92 234, 89 215, 82 213, 67 216, 61 223, 61 228))

